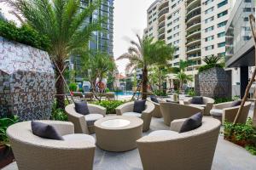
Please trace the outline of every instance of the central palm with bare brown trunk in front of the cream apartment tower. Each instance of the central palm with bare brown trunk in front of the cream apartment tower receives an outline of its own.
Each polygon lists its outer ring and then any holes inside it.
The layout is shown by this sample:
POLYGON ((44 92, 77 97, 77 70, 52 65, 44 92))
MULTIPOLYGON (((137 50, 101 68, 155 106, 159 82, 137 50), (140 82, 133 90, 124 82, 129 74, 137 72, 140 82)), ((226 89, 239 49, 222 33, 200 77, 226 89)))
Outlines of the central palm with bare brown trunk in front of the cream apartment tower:
POLYGON ((148 93, 148 67, 150 65, 164 65, 167 60, 172 59, 174 48, 172 45, 166 45, 164 41, 154 42, 152 37, 139 37, 138 42, 131 41, 131 47, 128 52, 119 56, 118 59, 129 59, 126 65, 126 71, 135 68, 143 70, 143 99, 147 99, 148 93))

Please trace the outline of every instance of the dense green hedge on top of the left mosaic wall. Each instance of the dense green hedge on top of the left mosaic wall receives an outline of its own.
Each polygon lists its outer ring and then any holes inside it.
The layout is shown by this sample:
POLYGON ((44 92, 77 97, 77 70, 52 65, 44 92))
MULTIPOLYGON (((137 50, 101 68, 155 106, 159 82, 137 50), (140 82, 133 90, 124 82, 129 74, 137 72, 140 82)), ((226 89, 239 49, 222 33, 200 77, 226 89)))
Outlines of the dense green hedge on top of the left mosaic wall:
POLYGON ((11 41, 20 42, 33 48, 49 51, 50 42, 49 38, 40 35, 38 31, 32 27, 23 25, 20 28, 15 26, 14 23, 0 19, 0 37, 7 38, 11 41))

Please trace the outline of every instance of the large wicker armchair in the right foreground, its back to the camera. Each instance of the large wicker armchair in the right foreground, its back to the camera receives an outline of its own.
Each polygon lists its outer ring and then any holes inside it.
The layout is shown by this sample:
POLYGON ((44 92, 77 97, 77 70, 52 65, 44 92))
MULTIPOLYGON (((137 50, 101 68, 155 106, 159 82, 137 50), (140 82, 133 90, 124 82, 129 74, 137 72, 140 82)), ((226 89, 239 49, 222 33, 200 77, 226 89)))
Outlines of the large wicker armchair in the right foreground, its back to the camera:
POLYGON ((184 120, 173 121, 171 131, 154 131, 137 140, 144 170, 211 169, 220 122, 203 117, 201 127, 177 133, 184 120))

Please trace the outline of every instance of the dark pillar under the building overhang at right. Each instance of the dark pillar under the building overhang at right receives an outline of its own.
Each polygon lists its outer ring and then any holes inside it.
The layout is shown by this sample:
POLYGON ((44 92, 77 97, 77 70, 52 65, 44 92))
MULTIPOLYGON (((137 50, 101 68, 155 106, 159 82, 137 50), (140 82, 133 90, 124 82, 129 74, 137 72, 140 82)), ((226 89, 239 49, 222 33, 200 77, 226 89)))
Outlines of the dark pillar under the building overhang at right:
POLYGON ((241 99, 243 98, 247 84, 248 84, 248 67, 247 66, 241 66, 240 67, 240 95, 241 99))

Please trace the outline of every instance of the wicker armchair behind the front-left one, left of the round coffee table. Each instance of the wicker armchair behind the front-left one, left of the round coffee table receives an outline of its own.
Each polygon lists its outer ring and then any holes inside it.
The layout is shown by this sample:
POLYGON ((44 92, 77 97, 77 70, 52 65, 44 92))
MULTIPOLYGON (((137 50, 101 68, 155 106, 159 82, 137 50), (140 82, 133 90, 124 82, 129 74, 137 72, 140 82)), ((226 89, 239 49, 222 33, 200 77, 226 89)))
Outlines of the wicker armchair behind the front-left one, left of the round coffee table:
POLYGON ((84 116, 75 111, 74 104, 67 105, 65 111, 69 122, 73 122, 75 133, 95 133, 94 122, 106 116, 106 108, 100 105, 88 104, 91 114, 84 116), (87 117, 87 118, 86 118, 87 117))

